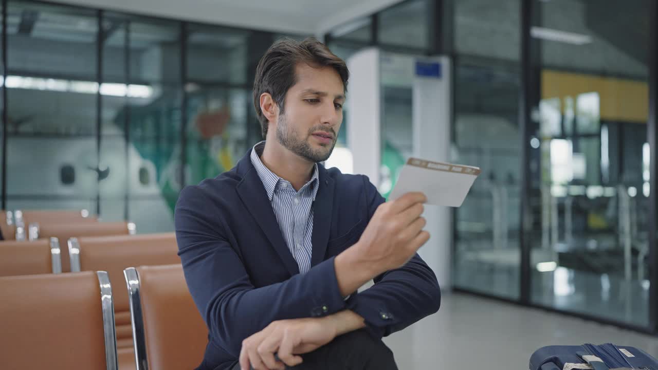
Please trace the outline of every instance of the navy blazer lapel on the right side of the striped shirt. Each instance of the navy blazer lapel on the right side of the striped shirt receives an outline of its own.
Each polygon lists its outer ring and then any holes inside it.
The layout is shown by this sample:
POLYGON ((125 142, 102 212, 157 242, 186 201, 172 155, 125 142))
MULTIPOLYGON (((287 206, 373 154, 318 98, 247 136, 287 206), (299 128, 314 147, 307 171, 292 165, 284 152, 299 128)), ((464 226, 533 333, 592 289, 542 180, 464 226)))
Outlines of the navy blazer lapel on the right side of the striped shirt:
POLYGON ((334 209, 334 179, 327 176, 327 171, 318 164, 319 187, 318 194, 313 202, 313 253, 311 254, 311 266, 324 261, 324 254, 329 241, 329 230, 331 229, 332 211, 334 209))

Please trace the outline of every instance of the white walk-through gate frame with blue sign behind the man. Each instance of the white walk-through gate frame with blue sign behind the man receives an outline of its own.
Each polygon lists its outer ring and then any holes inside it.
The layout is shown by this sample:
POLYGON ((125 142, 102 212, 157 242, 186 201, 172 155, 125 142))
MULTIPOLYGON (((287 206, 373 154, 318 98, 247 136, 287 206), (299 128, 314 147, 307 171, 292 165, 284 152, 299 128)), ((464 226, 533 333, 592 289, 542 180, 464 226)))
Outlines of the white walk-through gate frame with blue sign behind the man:
MULTIPOLYGON (((366 174, 380 185, 382 80, 413 90, 413 155, 430 161, 449 161, 451 91, 447 57, 382 57, 377 49, 355 53, 347 60, 350 71, 347 107, 347 146, 354 159, 354 173, 366 174), (382 68, 382 59, 386 65, 382 68)), ((431 234, 419 251, 432 268, 442 292, 451 290, 451 209, 428 205, 424 214, 431 234)))

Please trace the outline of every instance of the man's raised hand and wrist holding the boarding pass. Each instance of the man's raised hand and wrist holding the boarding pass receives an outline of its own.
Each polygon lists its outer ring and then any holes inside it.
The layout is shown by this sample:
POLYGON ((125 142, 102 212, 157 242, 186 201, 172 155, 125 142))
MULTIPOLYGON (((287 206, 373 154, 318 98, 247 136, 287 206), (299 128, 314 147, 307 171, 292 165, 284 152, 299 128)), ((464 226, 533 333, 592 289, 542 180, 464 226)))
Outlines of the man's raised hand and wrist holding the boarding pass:
POLYGON ((426 201, 422 193, 407 193, 377 208, 359 242, 334 261, 343 296, 377 275, 403 266, 429 240, 430 234, 422 230, 426 221, 420 217, 426 201))

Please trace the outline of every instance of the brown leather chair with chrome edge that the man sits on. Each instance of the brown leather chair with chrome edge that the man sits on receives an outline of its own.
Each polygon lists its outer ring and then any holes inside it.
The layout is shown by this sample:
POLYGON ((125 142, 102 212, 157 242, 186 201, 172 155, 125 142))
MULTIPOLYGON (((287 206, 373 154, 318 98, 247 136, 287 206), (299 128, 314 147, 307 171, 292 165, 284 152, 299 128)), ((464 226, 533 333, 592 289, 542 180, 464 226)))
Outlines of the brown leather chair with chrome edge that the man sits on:
POLYGON ((208 330, 192 301, 182 265, 124 271, 138 370, 193 369, 203 359, 208 330))

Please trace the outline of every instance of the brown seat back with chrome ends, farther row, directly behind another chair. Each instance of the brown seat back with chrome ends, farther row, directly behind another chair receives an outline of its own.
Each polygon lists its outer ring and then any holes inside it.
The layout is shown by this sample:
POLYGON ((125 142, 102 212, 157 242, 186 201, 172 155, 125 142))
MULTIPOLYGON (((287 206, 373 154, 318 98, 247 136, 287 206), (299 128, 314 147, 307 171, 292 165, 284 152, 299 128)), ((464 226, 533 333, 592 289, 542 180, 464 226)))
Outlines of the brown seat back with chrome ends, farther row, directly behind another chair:
MULTIPOLYGON (((134 235, 136 228, 134 223, 46 223, 34 227, 30 225, 30 239, 57 238, 64 243, 70 238, 81 238, 84 236, 110 236, 110 235, 134 235), (36 229, 36 230, 35 230, 36 229)), ((68 248, 62 246, 62 272, 68 273, 70 260, 68 248)))

